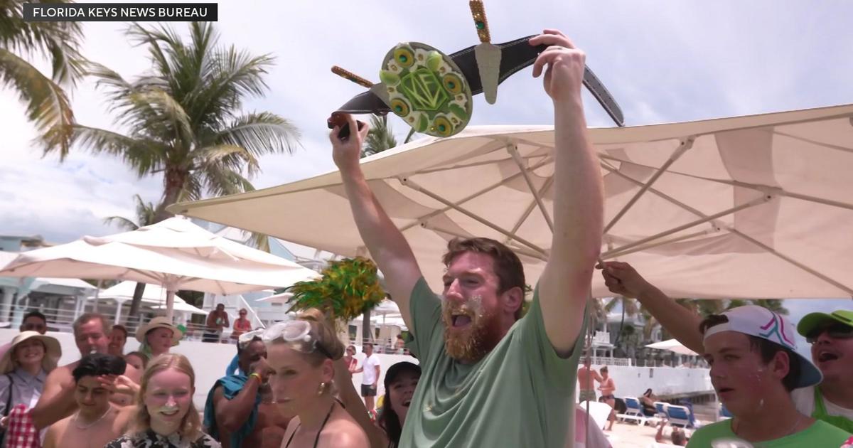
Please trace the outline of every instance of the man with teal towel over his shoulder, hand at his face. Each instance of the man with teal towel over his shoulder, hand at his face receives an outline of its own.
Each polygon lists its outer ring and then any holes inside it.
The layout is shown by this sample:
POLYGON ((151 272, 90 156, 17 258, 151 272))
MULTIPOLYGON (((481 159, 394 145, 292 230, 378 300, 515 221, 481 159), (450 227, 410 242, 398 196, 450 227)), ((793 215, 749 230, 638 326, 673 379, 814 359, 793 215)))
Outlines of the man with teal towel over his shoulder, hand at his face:
POLYGON ((240 372, 220 378, 208 395, 207 432, 223 448, 278 448, 290 418, 282 416, 272 403, 264 341, 258 332, 245 333, 240 336, 237 350, 240 372))

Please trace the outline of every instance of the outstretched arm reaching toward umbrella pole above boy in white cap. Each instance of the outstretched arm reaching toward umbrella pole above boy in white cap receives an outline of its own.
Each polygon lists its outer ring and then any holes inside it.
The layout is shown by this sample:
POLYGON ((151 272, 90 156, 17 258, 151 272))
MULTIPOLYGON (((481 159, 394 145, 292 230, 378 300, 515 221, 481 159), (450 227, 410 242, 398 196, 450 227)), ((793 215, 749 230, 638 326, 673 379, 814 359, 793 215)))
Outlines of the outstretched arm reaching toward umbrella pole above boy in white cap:
POLYGON ((628 263, 606 261, 596 267, 601 269, 604 284, 612 293, 640 300, 640 303, 676 340, 693 352, 705 352, 702 334, 699 332, 701 322, 699 315, 678 305, 675 300, 647 282, 628 263))

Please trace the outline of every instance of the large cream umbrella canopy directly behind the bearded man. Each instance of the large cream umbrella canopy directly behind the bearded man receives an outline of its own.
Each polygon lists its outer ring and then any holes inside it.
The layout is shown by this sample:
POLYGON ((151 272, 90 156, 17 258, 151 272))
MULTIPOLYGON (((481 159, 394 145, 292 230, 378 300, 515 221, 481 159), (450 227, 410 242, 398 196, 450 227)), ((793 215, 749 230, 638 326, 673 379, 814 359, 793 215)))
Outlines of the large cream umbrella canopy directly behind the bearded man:
MULTIPOLYGON (((674 297, 853 297, 851 114, 590 130, 606 194, 601 258, 674 297)), ((508 243, 537 282, 553 233, 553 126, 469 126, 371 156, 363 171, 433 289, 455 236, 508 243)), ((339 172, 171 211, 346 256, 363 246, 339 172)), ((592 292, 611 295, 601 276, 592 292)))

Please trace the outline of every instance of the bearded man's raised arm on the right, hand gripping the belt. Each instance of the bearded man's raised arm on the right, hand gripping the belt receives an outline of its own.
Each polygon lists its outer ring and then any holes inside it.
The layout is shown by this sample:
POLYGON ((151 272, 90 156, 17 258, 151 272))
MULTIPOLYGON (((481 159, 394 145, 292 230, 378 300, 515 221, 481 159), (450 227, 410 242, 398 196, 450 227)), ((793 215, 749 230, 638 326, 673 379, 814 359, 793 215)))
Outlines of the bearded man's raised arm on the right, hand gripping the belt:
POLYGON ((545 91, 554 101, 554 236, 539 279, 539 301, 548 340, 560 356, 567 356, 583 325, 593 267, 601 251, 601 169, 583 117, 585 55, 555 30, 545 30, 530 44, 549 45, 534 63, 533 76, 548 66, 545 91))

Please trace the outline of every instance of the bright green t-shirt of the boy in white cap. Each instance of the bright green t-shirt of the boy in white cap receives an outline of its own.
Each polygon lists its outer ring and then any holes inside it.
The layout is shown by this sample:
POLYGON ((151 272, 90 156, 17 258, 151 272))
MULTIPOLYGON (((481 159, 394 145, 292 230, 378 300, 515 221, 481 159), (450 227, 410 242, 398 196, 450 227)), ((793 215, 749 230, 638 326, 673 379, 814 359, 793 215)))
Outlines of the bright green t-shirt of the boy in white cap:
MULTIPOLYGON (((725 446, 725 448, 734 448, 735 446, 739 448, 740 446, 754 446, 755 448, 835 448, 838 446, 840 448, 849 437, 850 433, 835 428, 827 422, 818 420, 809 428, 805 428, 799 433, 782 437, 781 439, 754 442, 752 445, 722 446, 725 446)), ((724 440, 737 440, 740 443, 745 443, 743 439, 734 435, 731 419, 699 428, 699 430, 693 433, 693 437, 690 438, 688 448, 711 448, 714 446, 714 442, 722 442, 724 440)))

